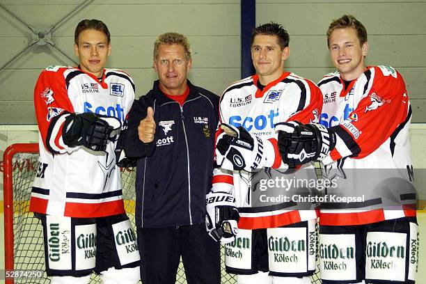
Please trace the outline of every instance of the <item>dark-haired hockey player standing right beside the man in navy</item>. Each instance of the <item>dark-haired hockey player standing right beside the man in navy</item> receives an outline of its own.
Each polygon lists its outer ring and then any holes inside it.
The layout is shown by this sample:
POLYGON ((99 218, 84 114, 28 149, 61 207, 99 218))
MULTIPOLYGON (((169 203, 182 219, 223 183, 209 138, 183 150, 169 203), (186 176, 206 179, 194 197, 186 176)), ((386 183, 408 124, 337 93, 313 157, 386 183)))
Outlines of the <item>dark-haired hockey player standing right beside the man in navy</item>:
POLYGON ((226 270, 238 274, 239 284, 310 283, 315 271, 315 210, 297 210, 288 203, 257 207, 251 188, 255 175, 287 170, 278 154, 275 125, 317 121, 322 108, 313 82, 284 71, 288 42, 280 24, 254 29, 251 55, 256 74, 231 84, 221 96, 216 134, 220 167, 214 170, 212 193, 207 194, 206 223, 212 237, 228 243, 226 270), (302 245, 289 251, 279 245, 281 241, 302 245))

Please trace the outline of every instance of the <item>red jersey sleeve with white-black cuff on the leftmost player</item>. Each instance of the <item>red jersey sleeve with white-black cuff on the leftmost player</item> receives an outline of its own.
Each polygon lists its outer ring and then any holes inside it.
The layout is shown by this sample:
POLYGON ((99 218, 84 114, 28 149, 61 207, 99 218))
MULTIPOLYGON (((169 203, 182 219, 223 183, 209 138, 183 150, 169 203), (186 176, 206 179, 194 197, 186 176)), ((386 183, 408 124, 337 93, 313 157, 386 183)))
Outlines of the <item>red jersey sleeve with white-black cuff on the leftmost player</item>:
POLYGON ((62 139, 65 118, 74 113, 61 68, 41 72, 34 88, 34 107, 40 136, 52 154, 72 152, 62 139))

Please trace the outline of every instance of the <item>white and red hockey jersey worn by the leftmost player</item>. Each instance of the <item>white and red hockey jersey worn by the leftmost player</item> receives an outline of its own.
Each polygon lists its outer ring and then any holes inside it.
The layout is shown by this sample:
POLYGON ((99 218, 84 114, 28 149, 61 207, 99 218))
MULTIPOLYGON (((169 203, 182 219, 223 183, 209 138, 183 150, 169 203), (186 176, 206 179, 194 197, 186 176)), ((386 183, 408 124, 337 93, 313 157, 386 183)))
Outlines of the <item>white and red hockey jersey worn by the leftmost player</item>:
POLYGON ((92 218, 125 212, 116 142, 103 152, 70 148, 62 139, 70 113, 94 112, 121 123, 134 100, 134 83, 120 70, 105 69, 100 81, 78 68, 52 66, 34 89, 40 130, 40 158, 30 210, 43 214, 92 218))

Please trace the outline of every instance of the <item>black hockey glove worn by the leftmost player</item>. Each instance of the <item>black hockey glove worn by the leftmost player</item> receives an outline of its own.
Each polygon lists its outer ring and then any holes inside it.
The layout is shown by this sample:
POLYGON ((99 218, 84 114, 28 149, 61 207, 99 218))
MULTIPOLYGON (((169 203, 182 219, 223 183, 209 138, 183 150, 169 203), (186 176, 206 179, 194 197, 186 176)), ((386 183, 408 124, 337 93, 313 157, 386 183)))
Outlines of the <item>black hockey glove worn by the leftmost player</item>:
POLYGON ((63 125, 63 143, 69 147, 84 147, 104 151, 108 141, 114 141, 121 127, 120 120, 96 113, 71 113, 63 125))

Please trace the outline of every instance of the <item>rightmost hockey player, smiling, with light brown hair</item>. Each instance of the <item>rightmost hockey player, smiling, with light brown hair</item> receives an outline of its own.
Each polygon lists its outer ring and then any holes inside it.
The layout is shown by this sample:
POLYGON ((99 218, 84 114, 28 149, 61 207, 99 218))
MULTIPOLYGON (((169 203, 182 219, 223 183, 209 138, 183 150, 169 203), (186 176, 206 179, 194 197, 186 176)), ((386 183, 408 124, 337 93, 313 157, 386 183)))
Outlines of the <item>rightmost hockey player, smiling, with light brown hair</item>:
MULTIPOLYGON (((331 22, 327 42, 338 71, 318 84, 324 99, 320 123, 336 137, 336 147, 322 160, 322 173, 338 177, 347 196, 364 198, 320 206, 322 283, 415 283, 418 225, 404 80, 392 67, 365 66, 367 31, 351 15, 331 22)), ((291 161, 294 149, 309 139, 299 135, 304 125, 287 126, 294 132, 280 132, 278 145, 291 161)), ((313 136, 311 145, 321 148, 322 139, 313 136)))

